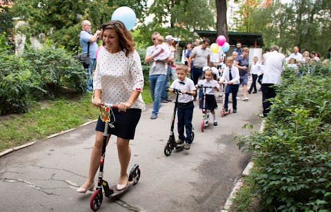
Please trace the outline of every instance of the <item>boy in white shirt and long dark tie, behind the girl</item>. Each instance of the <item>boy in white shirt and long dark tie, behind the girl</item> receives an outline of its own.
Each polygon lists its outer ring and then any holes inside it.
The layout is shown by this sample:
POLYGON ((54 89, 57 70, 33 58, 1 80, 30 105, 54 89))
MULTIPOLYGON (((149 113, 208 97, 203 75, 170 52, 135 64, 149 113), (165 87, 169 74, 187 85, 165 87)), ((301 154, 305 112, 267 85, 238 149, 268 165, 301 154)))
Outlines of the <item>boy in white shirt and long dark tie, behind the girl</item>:
POLYGON ((230 91, 232 93, 232 108, 233 113, 237 113, 237 93, 240 83, 239 69, 233 66, 233 57, 227 57, 226 68, 223 71, 222 77, 219 79, 219 84, 223 84, 223 81, 228 81, 228 86, 225 88, 225 111, 228 111, 228 102, 230 91))

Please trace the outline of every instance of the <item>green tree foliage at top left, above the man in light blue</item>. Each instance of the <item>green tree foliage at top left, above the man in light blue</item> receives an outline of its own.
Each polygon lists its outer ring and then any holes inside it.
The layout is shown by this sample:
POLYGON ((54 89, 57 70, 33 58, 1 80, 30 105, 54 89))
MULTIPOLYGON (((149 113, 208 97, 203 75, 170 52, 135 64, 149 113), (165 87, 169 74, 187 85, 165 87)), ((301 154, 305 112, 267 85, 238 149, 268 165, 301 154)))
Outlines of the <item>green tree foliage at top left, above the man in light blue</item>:
POLYGON ((121 6, 130 6, 139 21, 143 21, 146 1, 89 1, 89 0, 16 0, 12 14, 28 22, 22 29, 30 35, 44 33, 58 46, 72 50, 79 46, 80 23, 88 19, 92 30, 110 21, 112 12, 121 6))

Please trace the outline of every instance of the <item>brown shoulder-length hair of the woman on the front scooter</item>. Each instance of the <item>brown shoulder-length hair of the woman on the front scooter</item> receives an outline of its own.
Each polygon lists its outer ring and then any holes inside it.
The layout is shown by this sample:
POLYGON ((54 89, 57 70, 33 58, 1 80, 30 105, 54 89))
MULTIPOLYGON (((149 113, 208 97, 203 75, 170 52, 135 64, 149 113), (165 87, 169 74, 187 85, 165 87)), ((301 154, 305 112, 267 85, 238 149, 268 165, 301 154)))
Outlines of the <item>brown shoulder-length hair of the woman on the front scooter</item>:
MULTIPOLYGON (((119 36, 119 46, 121 49, 126 50, 126 57, 128 57, 130 52, 134 52, 134 41, 129 30, 126 29, 126 26, 122 21, 110 21, 108 23, 103 23, 101 28, 100 37, 103 39, 103 32, 107 29, 114 29, 119 36)), ((103 41, 103 46, 105 43, 103 41)))

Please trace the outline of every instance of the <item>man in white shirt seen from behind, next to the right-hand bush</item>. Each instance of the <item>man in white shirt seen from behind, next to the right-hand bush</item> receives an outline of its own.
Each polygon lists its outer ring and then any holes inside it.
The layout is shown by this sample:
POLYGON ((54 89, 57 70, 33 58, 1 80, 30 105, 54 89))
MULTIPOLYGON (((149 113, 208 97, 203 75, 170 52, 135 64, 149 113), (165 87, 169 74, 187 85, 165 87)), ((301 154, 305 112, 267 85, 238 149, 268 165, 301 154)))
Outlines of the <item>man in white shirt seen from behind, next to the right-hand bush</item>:
POLYGON ((285 56, 279 53, 278 46, 272 46, 271 52, 265 53, 265 68, 263 70, 262 79, 262 105, 263 105, 263 117, 268 116, 270 112, 271 98, 276 97, 274 90, 274 84, 281 83, 281 73, 283 71, 283 65, 285 56))

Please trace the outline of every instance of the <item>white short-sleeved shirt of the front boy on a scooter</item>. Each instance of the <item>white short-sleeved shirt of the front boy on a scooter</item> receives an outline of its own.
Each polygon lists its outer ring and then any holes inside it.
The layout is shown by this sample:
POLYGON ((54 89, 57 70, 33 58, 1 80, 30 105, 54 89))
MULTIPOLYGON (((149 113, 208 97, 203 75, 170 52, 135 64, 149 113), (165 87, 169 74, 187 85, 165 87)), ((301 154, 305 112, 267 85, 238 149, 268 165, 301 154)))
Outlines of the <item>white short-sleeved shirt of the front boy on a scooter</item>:
MULTIPOLYGON (((189 79, 188 77, 185 77, 185 79, 183 80, 183 83, 185 84, 180 84, 179 83, 179 79, 175 79, 170 88, 176 88, 178 90, 186 90, 186 91, 192 91, 192 90, 197 90, 197 88, 195 88, 194 86, 194 82, 192 81, 192 79, 189 79)), ((188 103, 193 101, 193 96, 192 95, 186 95, 186 94, 179 94, 178 97, 178 102, 179 103, 188 103)))

